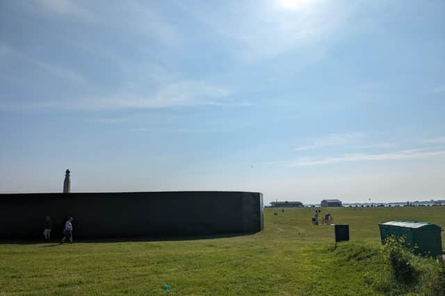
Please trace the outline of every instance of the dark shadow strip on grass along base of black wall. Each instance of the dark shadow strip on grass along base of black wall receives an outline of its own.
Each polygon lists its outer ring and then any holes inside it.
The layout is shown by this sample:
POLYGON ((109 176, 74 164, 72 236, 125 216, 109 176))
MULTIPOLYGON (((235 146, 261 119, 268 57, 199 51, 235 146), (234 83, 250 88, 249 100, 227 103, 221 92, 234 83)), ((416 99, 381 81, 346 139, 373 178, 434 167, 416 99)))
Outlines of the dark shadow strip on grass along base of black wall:
MULTIPOLYGON (((150 242, 150 241, 198 241, 202 239, 211 238, 232 238, 236 236, 248 236, 252 233, 246 234, 209 234, 200 236, 147 236, 147 237, 120 237, 120 238, 79 238, 76 239, 74 236, 74 243, 126 243, 126 242, 150 242)), ((54 243, 60 240, 0 240, 0 245, 32 245, 32 244, 42 244, 42 243, 54 243)), ((44 247, 56 247, 60 243, 54 245, 45 245, 44 247)))

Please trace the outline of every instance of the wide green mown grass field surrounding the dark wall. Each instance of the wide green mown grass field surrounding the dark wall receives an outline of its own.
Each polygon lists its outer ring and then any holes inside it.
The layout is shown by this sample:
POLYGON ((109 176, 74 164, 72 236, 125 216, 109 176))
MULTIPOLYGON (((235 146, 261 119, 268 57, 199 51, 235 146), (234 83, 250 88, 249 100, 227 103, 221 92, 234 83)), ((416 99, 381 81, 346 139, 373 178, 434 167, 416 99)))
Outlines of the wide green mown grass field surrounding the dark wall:
POLYGON ((334 223, 350 225, 350 242, 336 249, 334 227, 312 225, 313 209, 274 211, 264 211, 263 232, 247 236, 0 243, 0 295, 378 295, 366 279, 381 262, 356 252, 380 247, 378 223, 418 220, 445 227, 445 207, 332 208, 334 223))

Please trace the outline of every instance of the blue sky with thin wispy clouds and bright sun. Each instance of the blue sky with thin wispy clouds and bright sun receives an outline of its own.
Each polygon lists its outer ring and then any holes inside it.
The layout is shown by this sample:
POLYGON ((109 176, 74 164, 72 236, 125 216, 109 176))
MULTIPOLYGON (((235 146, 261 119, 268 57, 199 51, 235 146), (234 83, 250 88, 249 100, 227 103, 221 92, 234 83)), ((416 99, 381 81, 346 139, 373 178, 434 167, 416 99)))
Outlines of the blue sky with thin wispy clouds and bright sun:
POLYGON ((445 199, 444 1, 1 1, 0 192, 445 199))

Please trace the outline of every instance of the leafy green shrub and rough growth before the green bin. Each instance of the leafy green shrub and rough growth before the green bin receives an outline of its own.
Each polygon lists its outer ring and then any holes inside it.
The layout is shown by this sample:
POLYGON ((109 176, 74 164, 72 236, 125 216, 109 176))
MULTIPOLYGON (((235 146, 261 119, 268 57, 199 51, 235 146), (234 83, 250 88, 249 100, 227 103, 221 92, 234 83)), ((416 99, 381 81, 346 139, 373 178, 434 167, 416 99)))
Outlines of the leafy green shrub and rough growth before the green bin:
POLYGON ((337 265, 366 266, 364 284, 383 295, 445 296, 442 257, 416 256, 406 247, 404 238, 391 236, 383 247, 339 243, 327 245, 325 250, 337 258, 337 265))

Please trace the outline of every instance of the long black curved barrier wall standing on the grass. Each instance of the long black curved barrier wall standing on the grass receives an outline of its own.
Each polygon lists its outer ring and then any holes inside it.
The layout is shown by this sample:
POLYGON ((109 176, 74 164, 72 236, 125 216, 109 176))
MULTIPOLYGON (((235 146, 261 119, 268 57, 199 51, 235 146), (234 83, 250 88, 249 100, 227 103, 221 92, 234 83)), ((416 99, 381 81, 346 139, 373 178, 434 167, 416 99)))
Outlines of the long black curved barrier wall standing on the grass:
POLYGON ((254 233, 264 229, 263 194, 230 191, 0 194, 0 239, 42 238, 44 216, 60 238, 254 233))

